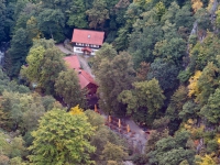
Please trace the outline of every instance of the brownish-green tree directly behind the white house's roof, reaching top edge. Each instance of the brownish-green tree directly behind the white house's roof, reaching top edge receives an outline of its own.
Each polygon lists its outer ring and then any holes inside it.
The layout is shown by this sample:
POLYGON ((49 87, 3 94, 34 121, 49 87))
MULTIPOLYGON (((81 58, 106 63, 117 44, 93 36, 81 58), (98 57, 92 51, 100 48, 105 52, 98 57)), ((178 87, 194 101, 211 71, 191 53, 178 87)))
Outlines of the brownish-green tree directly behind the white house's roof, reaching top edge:
POLYGON ((95 0, 92 8, 87 10, 86 14, 90 21, 89 26, 91 29, 103 29, 106 20, 109 19, 109 10, 107 9, 106 0, 95 0))

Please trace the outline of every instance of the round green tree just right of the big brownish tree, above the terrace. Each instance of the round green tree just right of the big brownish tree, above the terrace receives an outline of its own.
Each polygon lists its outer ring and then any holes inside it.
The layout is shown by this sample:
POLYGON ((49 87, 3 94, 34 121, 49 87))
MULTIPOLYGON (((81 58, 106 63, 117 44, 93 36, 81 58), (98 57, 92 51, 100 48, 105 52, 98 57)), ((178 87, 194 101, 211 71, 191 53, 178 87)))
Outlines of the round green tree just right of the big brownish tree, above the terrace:
POLYGON ((138 121, 152 124, 164 105, 165 96, 156 79, 133 84, 134 89, 123 90, 118 99, 128 105, 127 113, 138 121))

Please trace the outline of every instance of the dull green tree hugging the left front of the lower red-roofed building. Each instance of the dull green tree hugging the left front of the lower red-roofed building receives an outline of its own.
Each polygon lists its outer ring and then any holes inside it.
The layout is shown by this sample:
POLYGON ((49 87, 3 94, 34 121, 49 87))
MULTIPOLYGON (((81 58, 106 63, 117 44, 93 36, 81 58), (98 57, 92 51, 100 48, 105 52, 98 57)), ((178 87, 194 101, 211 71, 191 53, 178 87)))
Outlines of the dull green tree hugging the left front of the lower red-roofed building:
POLYGON ((64 99, 68 108, 86 107, 86 91, 80 89, 79 79, 74 69, 68 69, 67 72, 59 73, 55 81, 56 94, 64 99))

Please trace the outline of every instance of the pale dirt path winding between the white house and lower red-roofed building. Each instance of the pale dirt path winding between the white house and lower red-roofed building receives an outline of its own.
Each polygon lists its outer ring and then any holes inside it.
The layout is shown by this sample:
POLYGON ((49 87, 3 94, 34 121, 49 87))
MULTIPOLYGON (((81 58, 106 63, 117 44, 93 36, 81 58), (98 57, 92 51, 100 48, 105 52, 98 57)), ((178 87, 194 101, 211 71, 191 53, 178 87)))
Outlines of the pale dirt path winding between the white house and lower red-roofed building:
MULTIPOLYGON (((67 50, 64 47, 64 44, 56 44, 56 47, 58 47, 61 50, 61 52, 65 53, 65 54, 73 54, 73 55, 77 55, 76 53, 67 50)), ((95 77, 91 73, 91 68, 88 65, 87 58, 88 57, 82 57, 82 55, 77 55, 79 63, 81 65, 81 67, 84 68, 84 70, 86 70, 89 75, 91 75, 92 77, 95 77)))

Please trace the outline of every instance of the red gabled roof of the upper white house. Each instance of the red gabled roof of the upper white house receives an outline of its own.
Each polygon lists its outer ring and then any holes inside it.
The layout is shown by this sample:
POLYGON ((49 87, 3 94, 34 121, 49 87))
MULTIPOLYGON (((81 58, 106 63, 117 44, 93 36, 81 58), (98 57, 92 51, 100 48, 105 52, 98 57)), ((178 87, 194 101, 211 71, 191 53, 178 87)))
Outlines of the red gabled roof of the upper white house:
POLYGON ((72 37, 73 43, 102 45, 105 32, 75 29, 72 37))

